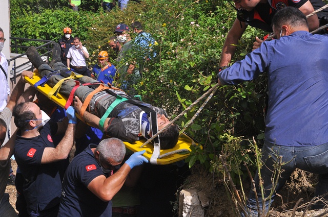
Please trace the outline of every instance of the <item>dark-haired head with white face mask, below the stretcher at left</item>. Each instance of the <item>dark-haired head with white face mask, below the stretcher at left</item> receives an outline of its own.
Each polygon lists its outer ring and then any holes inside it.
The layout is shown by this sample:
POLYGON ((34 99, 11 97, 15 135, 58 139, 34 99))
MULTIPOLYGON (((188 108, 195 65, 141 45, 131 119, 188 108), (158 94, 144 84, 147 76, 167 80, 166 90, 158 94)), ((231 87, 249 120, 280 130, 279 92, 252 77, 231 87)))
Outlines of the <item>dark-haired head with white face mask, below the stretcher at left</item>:
POLYGON ((19 103, 14 106, 12 114, 16 127, 22 131, 38 130, 50 119, 35 103, 19 103))

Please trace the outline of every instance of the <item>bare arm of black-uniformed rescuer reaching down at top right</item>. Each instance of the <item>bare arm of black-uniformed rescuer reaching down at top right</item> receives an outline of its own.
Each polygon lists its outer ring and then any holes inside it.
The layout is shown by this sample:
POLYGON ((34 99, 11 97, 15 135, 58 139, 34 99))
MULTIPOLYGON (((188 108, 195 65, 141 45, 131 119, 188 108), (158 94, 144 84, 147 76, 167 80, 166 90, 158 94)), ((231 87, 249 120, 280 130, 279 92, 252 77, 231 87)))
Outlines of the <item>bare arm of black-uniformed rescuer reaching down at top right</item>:
POLYGON ((232 56, 237 49, 237 47, 232 44, 238 44, 238 40, 247 28, 244 22, 241 22, 241 25, 242 28, 240 28, 239 19, 236 18, 232 28, 229 30, 226 41, 224 41, 219 66, 227 66, 231 62, 232 56))

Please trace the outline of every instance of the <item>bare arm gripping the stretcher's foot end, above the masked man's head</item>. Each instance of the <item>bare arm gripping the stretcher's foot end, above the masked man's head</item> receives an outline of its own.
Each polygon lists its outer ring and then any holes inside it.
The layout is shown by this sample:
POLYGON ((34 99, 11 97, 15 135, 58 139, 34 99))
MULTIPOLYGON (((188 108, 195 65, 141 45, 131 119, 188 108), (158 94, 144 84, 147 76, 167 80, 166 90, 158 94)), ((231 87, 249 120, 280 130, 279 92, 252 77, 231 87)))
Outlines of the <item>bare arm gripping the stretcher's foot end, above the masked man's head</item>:
MULTIPOLYGON (((23 94, 24 88, 25 88, 25 83, 26 81, 24 80, 24 77, 27 76, 29 78, 33 77, 32 71, 23 71, 22 75, 20 76, 19 81, 17 82, 15 88, 12 90, 9 102, 7 104, 7 108, 9 108, 11 111, 13 107, 16 105, 16 101, 18 101, 18 98, 23 94)), ((28 91, 28 94, 30 93, 31 90, 28 91)), ((25 100, 25 98, 23 98, 25 100)), ((19 102, 27 102, 27 101, 22 101, 19 100, 19 102)))

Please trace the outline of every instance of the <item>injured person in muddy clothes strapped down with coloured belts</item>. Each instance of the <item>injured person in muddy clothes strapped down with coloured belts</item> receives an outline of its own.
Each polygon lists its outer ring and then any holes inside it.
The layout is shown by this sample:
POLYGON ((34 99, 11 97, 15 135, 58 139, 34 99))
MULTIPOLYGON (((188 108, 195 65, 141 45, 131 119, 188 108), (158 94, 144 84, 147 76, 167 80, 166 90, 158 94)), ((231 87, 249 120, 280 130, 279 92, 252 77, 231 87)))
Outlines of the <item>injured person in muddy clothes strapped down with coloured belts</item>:
MULTIPOLYGON (((162 108, 135 100, 124 91, 99 84, 90 77, 76 73, 71 75, 71 70, 61 63, 57 43, 54 44, 53 60, 49 65, 43 62, 35 47, 30 47, 26 53, 40 77, 47 78, 47 84, 51 87, 56 84, 60 86, 58 83, 62 82, 59 92, 67 97, 74 95, 72 103, 80 117, 108 137, 133 142, 140 136, 150 138, 170 123, 162 108)), ((158 137, 161 149, 173 148, 179 137, 178 126, 172 124, 158 137)))

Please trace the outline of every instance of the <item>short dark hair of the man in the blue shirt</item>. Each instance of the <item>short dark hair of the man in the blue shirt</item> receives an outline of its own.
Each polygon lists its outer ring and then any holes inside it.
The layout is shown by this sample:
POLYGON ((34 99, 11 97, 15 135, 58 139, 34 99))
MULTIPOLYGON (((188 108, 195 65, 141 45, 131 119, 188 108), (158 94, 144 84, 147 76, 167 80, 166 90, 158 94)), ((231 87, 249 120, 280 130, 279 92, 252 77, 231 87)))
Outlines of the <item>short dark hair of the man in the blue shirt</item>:
POLYGON ((274 26, 277 30, 287 24, 293 27, 306 26, 309 28, 306 16, 294 7, 282 8, 272 18, 272 27, 274 26))

